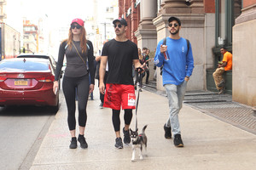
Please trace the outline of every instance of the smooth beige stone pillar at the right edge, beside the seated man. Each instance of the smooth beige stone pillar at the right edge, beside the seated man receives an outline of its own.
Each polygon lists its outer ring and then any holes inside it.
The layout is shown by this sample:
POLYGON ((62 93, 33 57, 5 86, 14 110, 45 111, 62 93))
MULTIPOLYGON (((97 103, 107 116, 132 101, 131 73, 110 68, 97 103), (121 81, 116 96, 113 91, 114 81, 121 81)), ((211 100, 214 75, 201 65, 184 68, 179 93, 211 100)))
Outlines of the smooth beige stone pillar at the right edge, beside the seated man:
POLYGON ((243 6, 241 15, 236 18, 236 25, 233 26, 232 99, 244 105, 255 106, 256 3, 244 0, 243 6))

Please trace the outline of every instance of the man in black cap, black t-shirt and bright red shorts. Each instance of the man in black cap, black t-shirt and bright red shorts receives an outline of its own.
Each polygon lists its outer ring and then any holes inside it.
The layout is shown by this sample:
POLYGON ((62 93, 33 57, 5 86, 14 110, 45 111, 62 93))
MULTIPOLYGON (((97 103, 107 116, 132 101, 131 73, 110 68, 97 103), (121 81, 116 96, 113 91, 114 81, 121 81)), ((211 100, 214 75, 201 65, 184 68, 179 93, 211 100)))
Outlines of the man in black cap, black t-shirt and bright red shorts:
POLYGON ((132 78, 132 65, 135 68, 143 68, 138 59, 137 44, 125 37, 127 22, 123 18, 113 20, 116 37, 106 42, 102 48, 100 66, 100 92, 105 93, 104 76, 108 61, 108 77, 104 107, 112 109, 112 122, 116 134, 114 146, 123 148, 120 137, 120 108, 125 110, 123 127, 124 143, 130 144, 129 127, 132 118, 132 109, 136 108, 136 96, 132 78))

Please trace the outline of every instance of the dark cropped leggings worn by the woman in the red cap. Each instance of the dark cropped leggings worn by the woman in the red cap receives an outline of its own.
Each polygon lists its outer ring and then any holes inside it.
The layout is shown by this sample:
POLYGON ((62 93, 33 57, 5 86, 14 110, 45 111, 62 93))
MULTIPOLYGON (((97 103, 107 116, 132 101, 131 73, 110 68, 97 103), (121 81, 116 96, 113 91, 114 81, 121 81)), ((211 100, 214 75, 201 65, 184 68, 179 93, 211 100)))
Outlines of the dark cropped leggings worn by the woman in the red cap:
POLYGON ((78 90, 79 100, 79 126, 85 127, 87 121, 87 101, 89 96, 89 76, 88 74, 84 77, 63 77, 62 88, 67 103, 67 124, 69 130, 76 128, 76 88, 78 90))

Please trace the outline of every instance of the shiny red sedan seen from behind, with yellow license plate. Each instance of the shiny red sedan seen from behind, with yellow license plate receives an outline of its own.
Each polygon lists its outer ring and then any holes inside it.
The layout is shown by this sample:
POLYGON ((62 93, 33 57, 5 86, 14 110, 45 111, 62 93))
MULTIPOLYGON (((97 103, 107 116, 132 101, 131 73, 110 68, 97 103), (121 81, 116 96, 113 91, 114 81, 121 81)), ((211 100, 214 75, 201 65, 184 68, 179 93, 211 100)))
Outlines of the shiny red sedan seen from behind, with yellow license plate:
POLYGON ((0 61, 0 106, 48 105, 59 109, 59 90, 49 59, 15 58, 0 61))

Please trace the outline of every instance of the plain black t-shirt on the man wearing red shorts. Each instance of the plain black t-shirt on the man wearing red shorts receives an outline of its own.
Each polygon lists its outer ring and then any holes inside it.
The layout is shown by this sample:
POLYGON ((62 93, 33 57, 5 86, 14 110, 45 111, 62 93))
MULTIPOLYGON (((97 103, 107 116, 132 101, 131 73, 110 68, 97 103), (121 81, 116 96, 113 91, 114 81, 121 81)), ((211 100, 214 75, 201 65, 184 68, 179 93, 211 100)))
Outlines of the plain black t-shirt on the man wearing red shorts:
POLYGON ((102 56, 108 56, 107 83, 133 85, 133 59, 138 59, 136 43, 112 39, 103 46, 102 56))

